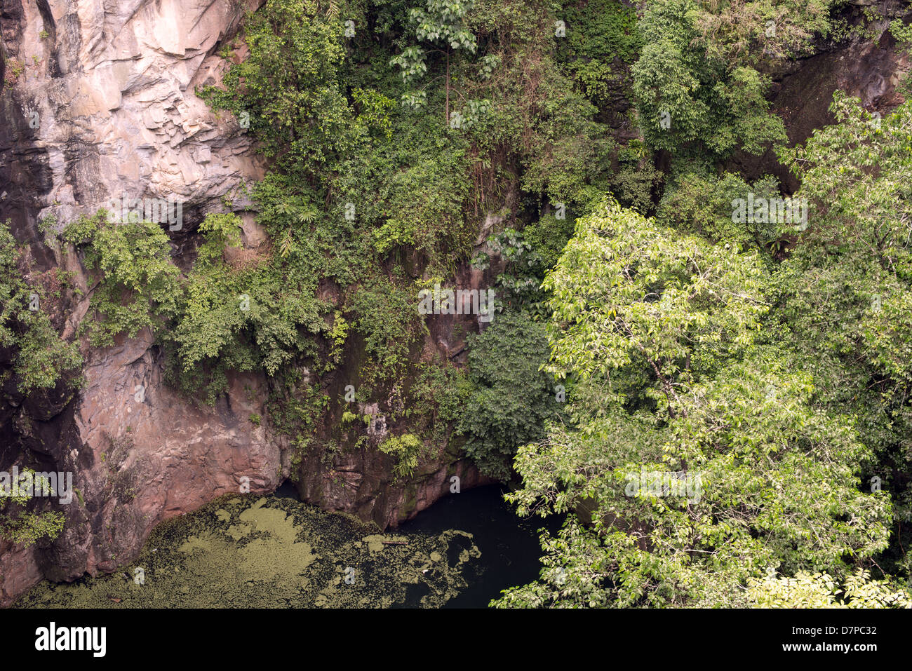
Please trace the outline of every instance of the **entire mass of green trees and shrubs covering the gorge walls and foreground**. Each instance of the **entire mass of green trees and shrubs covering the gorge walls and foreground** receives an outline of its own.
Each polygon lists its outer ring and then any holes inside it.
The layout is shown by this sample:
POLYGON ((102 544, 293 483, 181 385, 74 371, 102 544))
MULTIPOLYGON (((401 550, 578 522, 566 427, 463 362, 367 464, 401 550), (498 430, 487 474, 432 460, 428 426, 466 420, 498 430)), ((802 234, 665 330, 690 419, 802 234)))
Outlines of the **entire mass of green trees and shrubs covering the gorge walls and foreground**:
MULTIPOLYGON (((408 429, 368 448, 396 477, 464 441, 521 513, 571 513, 541 579, 497 605, 908 604, 912 108, 875 119, 837 92, 834 123, 789 148, 769 102, 790 59, 872 11, 268 0, 199 91, 271 160, 250 188, 268 243, 226 253, 226 208, 181 273, 156 224, 71 222, 99 280, 84 332, 150 327, 172 384, 210 403, 263 372, 300 449, 354 361, 358 401, 401 399, 408 429), (797 193, 726 162, 771 148, 797 193), (767 210, 735 216, 748 194, 767 210), (770 214, 783 195, 803 220, 770 214), (467 366, 420 360, 420 290, 470 265, 492 324, 467 366), (668 471, 688 495, 643 485, 668 471)), ((64 343, 37 365, 47 325, 11 311, 21 387, 78 366, 64 343)))

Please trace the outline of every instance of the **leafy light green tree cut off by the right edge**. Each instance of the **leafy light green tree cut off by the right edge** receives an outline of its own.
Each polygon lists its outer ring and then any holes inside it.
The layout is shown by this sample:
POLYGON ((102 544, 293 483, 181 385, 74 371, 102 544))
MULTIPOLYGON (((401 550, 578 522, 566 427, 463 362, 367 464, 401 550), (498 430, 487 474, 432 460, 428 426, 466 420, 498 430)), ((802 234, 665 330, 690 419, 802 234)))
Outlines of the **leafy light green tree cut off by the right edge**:
MULTIPOLYGON (((859 418, 876 450, 868 474, 896 504, 897 542, 912 511, 912 108, 877 121, 837 94, 836 123, 783 154, 802 179, 808 228, 782 264, 782 321, 829 408, 859 418)), ((892 558, 906 566, 905 552, 892 558)), ((891 561, 893 561, 891 559, 891 561)))

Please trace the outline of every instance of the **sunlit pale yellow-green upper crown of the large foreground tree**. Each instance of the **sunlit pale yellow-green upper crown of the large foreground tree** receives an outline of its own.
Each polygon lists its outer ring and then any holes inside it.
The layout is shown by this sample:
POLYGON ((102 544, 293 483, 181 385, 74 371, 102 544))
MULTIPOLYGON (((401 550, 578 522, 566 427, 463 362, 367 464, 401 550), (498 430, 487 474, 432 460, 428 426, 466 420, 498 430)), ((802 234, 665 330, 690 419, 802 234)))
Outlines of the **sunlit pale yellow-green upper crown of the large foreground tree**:
POLYGON ((751 344, 767 310, 762 284, 757 253, 672 234, 608 202, 577 222, 544 280, 550 369, 610 377, 637 358, 668 381, 695 348, 721 357, 751 344))

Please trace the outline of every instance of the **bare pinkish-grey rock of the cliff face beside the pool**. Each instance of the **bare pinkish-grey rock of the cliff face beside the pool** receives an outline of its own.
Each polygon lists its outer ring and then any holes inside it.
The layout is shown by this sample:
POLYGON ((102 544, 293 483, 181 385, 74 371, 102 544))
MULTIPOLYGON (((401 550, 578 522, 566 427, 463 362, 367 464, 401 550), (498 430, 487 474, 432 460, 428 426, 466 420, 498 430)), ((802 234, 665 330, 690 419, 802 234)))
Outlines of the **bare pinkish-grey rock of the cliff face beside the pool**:
MULTIPOLYGON (((244 243, 262 242, 239 192, 264 164, 237 121, 218 119, 194 95, 219 80, 223 61, 213 52, 261 4, 0 1, 0 220, 27 244, 33 272, 74 273, 83 297, 60 306, 64 336, 75 333, 93 287, 74 254, 44 243, 37 222, 47 217, 59 228, 111 198, 180 199, 182 227, 170 235, 185 267, 192 230, 231 202, 244 215, 244 243)), ((59 506, 66 527, 56 541, 0 542, 0 605, 42 577, 113 571, 157 523, 244 486, 275 490, 289 474, 286 439, 252 421, 265 416, 262 377, 234 377, 214 408, 201 409, 162 383, 148 331, 100 350, 83 343, 82 351, 86 383, 75 397, 3 390, 0 470, 27 454, 40 470, 72 472, 78 499, 59 506)), ((452 451, 421 463, 410 482, 391 481, 390 465, 361 449, 328 463, 305 456, 295 470, 307 501, 380 526, 449 493, 452 475, 461 487, 482 481, 452 451)))

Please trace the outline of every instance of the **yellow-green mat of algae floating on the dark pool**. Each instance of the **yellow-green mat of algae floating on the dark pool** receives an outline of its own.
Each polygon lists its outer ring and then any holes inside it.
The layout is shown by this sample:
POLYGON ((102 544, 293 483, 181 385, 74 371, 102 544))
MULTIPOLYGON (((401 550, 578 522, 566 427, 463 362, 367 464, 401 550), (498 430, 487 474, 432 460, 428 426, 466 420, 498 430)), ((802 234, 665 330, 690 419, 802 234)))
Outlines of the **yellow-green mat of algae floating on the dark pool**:
POLYGON ((229 496, 161 524, 130 566, 75 583, 45 581, 16 605, 440 607, 467 586, 479 557, 466 532, 382 534, 292 499, 229 496))

